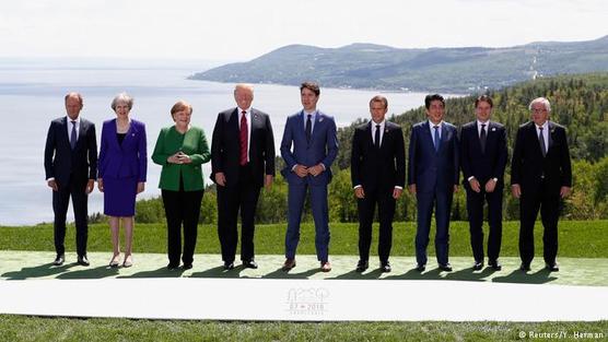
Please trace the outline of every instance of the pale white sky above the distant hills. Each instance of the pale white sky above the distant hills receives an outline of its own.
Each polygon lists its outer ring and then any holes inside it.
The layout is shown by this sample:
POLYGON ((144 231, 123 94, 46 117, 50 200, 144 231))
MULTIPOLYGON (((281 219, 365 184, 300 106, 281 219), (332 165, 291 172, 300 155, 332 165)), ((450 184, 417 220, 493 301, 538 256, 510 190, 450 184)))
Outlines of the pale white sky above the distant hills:
POLYGON ((606 0, 0 1, 0 57, 247 61, 279 47, 505 47, 608 34, 606 0))

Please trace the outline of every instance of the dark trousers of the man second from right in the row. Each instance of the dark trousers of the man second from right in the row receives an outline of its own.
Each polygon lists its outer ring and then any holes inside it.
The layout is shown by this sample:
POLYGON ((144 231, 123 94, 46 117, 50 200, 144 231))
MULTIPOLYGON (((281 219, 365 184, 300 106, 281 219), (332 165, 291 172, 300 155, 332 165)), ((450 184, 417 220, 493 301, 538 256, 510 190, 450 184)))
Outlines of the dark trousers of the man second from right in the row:
MULTIPOLYGON (((483 187, 484 185, 481 185, 483 187)), ((493 192, 475 192, 467 189, 467 212, 469 216, 469 232, 475 261, 483 261, 483 204, 488 202, 488 259, 490 262, 499 259, 502 240, 502 187, 493 192)))

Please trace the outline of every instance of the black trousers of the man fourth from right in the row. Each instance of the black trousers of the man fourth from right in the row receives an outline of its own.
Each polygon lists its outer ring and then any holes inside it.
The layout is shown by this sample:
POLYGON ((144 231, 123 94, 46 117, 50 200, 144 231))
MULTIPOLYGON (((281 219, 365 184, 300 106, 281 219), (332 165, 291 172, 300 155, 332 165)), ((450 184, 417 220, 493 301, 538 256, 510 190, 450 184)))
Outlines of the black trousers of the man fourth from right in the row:
POLYGON ((372 244, 372 223, 374 210, 378 205, 378 257, 381 263, 388 262, 393 245, 393 217, 395 215, 395 199, 393 188, 383 190, 364 189, 365 197, 356 200, 359 209, 359 257, 361 260, 370 258, 372 244))

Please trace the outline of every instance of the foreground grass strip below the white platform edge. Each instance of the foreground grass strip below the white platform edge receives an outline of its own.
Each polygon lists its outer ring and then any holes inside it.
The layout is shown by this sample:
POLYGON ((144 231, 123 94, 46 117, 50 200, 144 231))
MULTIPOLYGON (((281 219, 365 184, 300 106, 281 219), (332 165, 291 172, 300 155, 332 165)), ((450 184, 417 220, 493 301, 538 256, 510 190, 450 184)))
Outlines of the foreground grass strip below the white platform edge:
MULTIPOLYGON (((598 322, 210 322, 0 316, 1 341, 516 341, 524 331, 604 334, 598 322)), ((556 340, 556 339, 529 339, 556 340)))

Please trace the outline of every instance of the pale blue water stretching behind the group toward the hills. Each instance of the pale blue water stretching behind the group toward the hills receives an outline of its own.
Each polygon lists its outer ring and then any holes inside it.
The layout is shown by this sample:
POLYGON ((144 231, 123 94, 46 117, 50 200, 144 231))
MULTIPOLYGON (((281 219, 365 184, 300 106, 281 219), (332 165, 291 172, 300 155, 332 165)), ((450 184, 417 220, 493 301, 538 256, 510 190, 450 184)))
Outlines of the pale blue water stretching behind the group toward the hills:
MULTIPOLYGON (((104 120, 115 117, 114 96, 127 92, 135 98, 131 117, 145 122, 148 153, 152 154, 162 127, 173 120, 169 109, 178 99, 192 104, 192 125, 204 129, 209 144, 219 111, 235 106, 234 84, 189 81, 198 70, 188 69, 69 69, 37 66, 0 66, 0 225, 52 222, 51 190, 46 186, 44 146, 50 120, 66 115, 63 96, 70 91, 84 97, 81 116, 93 121, 97 142, 104 120)), ((369 118, 372 91, 323 89, 317 107, 334 116, 338 127, 356 118, 369 118)), ((425 94, 386 93, 390 114, 423 105, 425 94)), ((296 86, 255 85, 253 106, 270 115, 277 153, 285 119, 301 109, 296 86)), ((206 182, 210 164, 203 167, 206 182)), ((148 184, 142 197, 156 197, 161 166, 149 161, 148 184)), ((70 205, 69 219, 73 220, 70 205)), ((103 212, 103 194, 90 196, 89 213, 103 212)))

